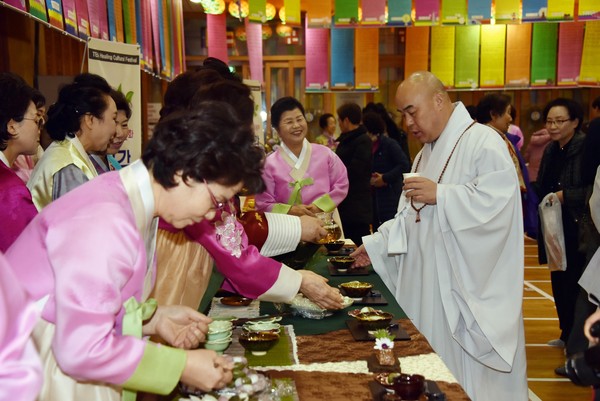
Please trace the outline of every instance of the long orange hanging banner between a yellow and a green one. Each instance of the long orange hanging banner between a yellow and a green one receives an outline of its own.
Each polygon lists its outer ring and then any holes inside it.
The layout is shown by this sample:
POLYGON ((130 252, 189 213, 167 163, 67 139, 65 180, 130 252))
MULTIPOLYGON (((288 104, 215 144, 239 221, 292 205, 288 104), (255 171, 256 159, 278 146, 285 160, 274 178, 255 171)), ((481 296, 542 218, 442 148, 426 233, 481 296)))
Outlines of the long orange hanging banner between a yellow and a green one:
POLYGON ((506 27, 506 86, 528 86, 531 61, 531 24, 506 27))

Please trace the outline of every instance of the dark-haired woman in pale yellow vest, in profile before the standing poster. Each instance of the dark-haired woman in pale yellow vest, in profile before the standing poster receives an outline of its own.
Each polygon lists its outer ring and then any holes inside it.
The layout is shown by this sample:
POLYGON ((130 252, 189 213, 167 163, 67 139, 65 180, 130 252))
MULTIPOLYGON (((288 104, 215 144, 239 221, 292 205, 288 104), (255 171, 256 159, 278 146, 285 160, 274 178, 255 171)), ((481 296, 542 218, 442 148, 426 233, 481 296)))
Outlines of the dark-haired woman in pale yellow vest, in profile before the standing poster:
POLYGON ((38 210, 98 176, 88 154, 105 152, 116 133, 117 108, 110 92, 104 78, 81 74, 48 109, 46 131, 53 142, 27 183, 38 210))

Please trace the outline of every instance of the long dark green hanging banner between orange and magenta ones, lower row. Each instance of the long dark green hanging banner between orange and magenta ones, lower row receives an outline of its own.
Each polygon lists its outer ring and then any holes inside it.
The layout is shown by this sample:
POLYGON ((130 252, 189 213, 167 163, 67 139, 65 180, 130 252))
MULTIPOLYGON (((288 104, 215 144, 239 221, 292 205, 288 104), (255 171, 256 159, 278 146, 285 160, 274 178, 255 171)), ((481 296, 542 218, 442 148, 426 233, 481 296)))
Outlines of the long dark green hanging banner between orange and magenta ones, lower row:
POLYGON ((546 86, 556 82, 556 48, 558 24, 536 22, 531 40, 531 85, 546 86))

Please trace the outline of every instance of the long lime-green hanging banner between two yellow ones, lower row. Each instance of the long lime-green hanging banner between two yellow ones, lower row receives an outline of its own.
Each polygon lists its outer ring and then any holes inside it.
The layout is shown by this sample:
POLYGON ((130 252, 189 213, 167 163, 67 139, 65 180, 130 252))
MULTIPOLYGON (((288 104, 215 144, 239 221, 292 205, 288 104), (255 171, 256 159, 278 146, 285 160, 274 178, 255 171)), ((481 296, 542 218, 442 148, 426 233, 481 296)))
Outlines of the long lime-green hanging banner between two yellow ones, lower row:
POLYGON ((456 88, 477 88, 479 84, 480 28, 478 25, 456 27, 456 88))

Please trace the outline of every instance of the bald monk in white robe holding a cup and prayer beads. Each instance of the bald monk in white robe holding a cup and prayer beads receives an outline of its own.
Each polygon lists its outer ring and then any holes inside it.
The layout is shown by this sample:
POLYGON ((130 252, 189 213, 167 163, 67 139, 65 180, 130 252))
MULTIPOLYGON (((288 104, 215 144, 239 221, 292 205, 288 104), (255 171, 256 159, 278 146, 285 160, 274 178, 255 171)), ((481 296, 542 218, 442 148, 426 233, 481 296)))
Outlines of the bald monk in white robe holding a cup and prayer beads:
POLYGON ((372 262, 473 400, 527 400, 523 219, 506 145, 431 73, 405 80, 396 104, 424 144, 421 176, 356 264, 372 262))

